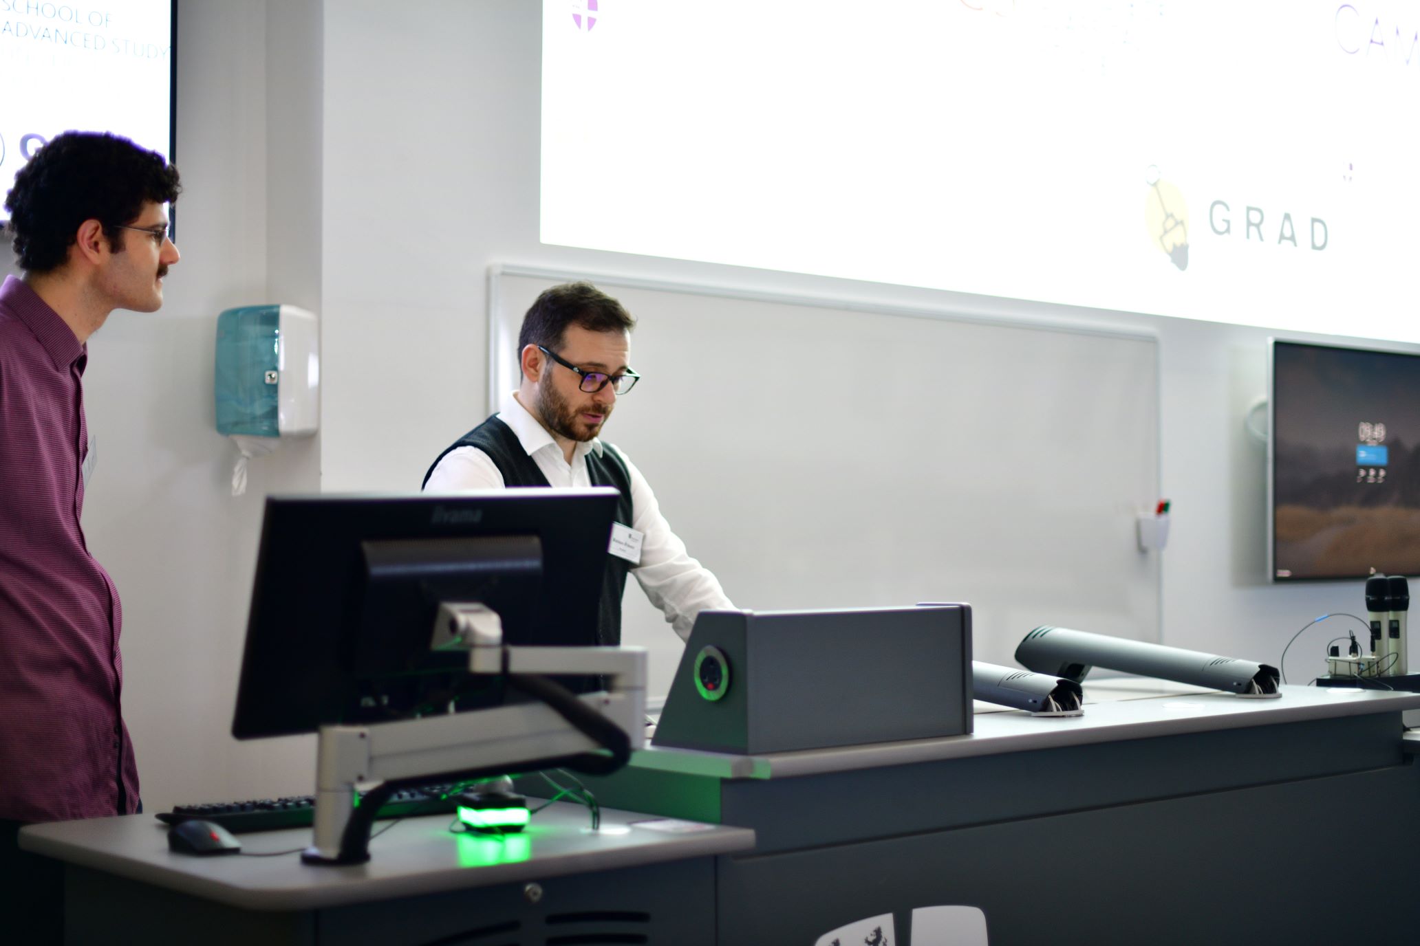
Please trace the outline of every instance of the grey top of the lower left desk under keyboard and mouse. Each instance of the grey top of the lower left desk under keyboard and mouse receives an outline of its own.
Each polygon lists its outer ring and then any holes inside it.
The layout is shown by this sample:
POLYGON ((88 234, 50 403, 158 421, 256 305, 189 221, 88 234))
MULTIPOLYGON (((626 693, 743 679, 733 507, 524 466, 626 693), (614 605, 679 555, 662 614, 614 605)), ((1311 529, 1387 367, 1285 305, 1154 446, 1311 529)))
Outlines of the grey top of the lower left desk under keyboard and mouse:
MULTIPOLYGON (((636 827, 645 814, 602 810, 602 833, 586 833, 588 814, 558 803, 524 835, 497 841, 450 834, 450 816, 408 818, 371 842, 372 859, 355 867, 311 867, 300 857, 189 857, 168 850, 163 825, 149 816, 37 824, 20 845, 68 864, 254 911, 305 911, 469 886, 541 881, 754 847, 754 833, 714 827, 667 834, 636 827), (608 830, 626 828, 622 834, 608 830)), ((310 828, 241 837, 247 852, 285 851, 311 842, 310 828)))

